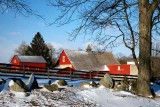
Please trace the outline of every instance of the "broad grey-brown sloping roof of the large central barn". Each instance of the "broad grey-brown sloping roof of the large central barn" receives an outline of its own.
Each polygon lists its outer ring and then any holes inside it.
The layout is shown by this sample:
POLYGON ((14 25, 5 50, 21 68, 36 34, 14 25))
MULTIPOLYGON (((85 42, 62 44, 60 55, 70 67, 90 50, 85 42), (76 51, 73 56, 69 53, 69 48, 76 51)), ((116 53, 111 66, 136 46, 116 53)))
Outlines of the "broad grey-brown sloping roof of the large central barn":
POLYGON ((111 52, 64 51, 76 70, 102 71, 105 65, 119 64, 111 52))

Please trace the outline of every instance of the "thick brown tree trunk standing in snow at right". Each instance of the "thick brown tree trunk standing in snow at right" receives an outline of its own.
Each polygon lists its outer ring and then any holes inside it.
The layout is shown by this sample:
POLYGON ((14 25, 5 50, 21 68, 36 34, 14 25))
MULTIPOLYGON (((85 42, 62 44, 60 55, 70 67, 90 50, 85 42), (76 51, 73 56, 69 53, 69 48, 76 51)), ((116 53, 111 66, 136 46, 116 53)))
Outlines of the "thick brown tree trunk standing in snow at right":
POLYGON ((151 57, 151 26, 152 15, 148 0, 139 0, 139 75, 137 94, 152 96, 150 89, 150 57, 151 57))

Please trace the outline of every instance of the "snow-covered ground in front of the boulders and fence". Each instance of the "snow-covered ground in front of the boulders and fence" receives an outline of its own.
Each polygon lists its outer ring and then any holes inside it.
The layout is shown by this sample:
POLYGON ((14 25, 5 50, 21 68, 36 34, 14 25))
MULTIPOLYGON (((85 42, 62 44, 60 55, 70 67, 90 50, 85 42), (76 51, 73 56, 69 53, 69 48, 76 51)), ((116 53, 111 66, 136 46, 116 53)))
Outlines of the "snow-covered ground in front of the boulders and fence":
MULTIPOLYGON (((24 82, 27 79, 22 78, 24 82)), ((116 92, 103 86, 79 87, 83 81, 85 80, 67 80, 73 87, 63 87, 65 89, 60 92, 49 92, 44 89, 36 89, 30 93, 2 91, 0 107, 160 107, 160 98, 143 98, 129 92, 116 92)), ((48 80, 38 79, 38 83, 47 84, 48 80)), ((158 84, 154 84, 152 88, 157 95, 160 95, 158 84)))

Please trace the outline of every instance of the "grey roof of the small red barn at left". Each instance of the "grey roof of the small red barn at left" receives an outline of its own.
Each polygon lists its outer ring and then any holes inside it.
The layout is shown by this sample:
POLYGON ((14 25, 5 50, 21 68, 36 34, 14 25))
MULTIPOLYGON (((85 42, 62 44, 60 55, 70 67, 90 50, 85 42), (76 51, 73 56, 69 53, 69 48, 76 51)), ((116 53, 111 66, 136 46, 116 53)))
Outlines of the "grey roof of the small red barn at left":
POLYGON ((16 56, 20 62, 46 63, 46 60, 42 56, 16 56))

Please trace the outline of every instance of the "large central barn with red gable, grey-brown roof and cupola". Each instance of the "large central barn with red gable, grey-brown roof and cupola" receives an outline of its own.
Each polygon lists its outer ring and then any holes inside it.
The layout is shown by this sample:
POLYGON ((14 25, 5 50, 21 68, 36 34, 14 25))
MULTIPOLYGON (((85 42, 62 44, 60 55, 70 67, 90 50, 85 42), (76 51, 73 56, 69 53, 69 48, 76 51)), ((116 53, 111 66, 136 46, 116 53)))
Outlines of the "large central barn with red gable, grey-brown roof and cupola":
POLYGON ((70 67, 81 71, 108 71, 107 65, 119 64, 111 52, 93 52, 88 46, 86 51, 63 50, 57 67, 70 67))

